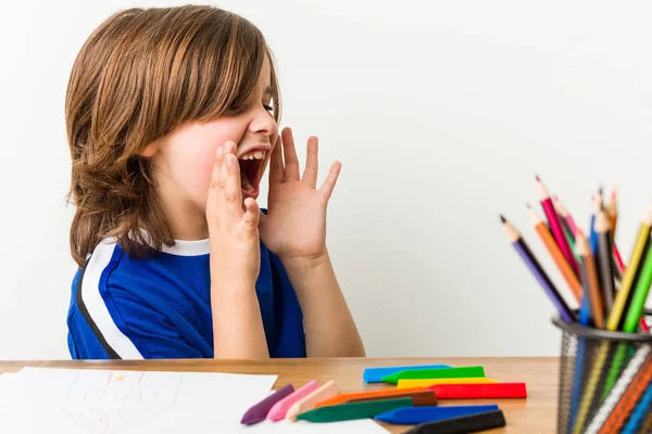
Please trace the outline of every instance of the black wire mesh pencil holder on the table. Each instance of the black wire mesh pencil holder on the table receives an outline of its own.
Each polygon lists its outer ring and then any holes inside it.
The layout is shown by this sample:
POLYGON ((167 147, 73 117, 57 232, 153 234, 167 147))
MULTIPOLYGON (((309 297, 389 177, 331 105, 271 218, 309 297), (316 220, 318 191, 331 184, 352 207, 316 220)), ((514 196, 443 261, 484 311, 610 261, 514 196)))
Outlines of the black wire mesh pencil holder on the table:
POLYGON ((563 333, 557 433, 652 433, 652 335, 552 322, 563 333))

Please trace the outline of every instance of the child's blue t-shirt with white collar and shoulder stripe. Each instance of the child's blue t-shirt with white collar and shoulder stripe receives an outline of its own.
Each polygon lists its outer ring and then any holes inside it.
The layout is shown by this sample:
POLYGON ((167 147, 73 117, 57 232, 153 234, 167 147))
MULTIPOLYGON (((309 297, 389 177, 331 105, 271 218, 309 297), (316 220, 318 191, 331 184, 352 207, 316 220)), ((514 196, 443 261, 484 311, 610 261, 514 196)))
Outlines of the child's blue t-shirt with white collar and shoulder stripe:
MULTIPOLYGON (((176 241, 130 258, 114 239, 97 245, 73 279, 67 315, 73 359, 212 358, 209 240, 176 241)), ((255 283, 271 357, 305 357, 301 307, 261 241, 255 283)))

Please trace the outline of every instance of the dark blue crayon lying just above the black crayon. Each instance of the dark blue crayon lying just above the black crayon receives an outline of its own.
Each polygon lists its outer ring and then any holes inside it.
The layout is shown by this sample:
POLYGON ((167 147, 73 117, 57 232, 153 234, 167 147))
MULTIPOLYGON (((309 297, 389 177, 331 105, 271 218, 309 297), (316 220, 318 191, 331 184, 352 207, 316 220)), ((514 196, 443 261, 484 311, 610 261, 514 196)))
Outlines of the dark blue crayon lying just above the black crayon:
POLYGON ((397 425, 416 425, 496 410, 499 410, 499 408, 494 404, 486 406, 425 406, 398 408, 380 413, 374 419, 397 425))

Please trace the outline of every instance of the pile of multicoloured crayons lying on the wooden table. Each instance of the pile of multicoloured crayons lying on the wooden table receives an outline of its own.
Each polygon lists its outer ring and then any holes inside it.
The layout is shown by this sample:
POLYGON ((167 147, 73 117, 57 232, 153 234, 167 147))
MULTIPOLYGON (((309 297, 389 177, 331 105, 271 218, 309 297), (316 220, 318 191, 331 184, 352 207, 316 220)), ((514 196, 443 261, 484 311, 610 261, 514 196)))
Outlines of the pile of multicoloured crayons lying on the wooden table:
POLYGON ((501 383, 485 376, 481 366, 421 365, 367 368, 365 383, 393 387, 339 393, 335 381, 311 381, 294 391, 287 384, 251 407, 241 423, 303 420, 324 423, 374 419, 416 425, 405 433, 473 433, 505 425, 498 405, 441 406, 447 399, 525 398, 525 383, 501 383))

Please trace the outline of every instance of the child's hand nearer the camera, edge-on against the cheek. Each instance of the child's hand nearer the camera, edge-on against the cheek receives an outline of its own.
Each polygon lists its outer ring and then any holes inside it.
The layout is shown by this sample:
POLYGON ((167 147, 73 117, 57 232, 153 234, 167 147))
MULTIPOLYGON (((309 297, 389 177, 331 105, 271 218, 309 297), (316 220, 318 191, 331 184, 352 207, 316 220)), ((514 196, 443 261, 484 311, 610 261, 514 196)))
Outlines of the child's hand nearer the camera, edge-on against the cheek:
POLYGON ((217 148, 206 203, 211 286, 253 288, 261 267, 260 208, 248 197, 242 209, 236 143, 217 148), (243 285, 243 286, 242 286, 243 285))

